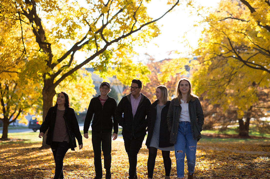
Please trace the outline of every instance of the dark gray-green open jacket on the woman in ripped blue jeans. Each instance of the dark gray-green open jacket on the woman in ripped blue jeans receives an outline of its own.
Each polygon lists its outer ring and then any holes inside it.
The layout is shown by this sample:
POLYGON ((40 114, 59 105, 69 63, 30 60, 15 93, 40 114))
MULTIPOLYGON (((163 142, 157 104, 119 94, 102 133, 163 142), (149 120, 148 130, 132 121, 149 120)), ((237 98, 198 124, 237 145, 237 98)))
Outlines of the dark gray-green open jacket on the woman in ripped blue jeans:
MULTIPOLYGON (((167 115, 167 124, 168 130, 170 131, 170 143, 173 144, 176 143, 181 109, 182 108, 179 104, 178 98, 174 98, 173 100, 171 100, 167 115)), ((190 116, 193 139, 197 139, 199 141, 202 137, 201 131, 203 130, 204 124, 204 114, 200 100, 196 99, 194 101, 189 101, 188 111, 190 116)))

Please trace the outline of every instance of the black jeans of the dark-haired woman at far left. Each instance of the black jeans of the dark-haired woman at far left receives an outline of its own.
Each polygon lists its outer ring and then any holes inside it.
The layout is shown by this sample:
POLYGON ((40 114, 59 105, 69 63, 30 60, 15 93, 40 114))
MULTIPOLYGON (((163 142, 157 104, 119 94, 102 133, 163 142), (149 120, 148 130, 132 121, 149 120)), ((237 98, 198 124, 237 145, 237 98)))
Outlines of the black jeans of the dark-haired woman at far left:
POLYGON ((64 178, 63 175, 63 159, 68 152, 69 143, 67 141, 63 142, 52 142, 50 146, 52 149, 54 161, 55 161, 55 174, 53 179, 64 178))

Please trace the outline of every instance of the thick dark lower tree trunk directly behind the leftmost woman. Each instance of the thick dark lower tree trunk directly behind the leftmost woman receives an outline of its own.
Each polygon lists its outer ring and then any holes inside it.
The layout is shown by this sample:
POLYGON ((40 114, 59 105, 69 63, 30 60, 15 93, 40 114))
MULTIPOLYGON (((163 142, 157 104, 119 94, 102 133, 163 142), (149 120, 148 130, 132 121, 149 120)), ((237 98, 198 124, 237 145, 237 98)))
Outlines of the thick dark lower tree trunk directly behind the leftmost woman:
MULTIPOLYGON (((53 79, 45 79, 44 80, 44 87, 42 90, 42 97, 43 97, 43 121, 45 120, 45 117, 49 111, 49 108, 53 106, 53 96, 56 94, 55 87, 53 84, 53 79)), ((43 148, 49 148, 49 146, 46 144, 46 133, 43 135, 42 139, 42 147, 43 148)))

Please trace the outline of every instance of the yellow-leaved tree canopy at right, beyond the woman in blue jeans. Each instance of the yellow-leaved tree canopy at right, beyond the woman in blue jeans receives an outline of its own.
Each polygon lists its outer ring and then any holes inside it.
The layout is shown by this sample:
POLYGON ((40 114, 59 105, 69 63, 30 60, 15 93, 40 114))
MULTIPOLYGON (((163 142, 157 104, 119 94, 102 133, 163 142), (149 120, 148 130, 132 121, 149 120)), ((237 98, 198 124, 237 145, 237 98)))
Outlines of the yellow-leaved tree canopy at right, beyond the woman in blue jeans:
POLYGON ((247 122, 244 135, 258 93, 270 83, 269 10, 268 1, 221 1, 202 21, 207 27, 195 50, 197 92, 224 111, 235 107, 240 128, 247 122))

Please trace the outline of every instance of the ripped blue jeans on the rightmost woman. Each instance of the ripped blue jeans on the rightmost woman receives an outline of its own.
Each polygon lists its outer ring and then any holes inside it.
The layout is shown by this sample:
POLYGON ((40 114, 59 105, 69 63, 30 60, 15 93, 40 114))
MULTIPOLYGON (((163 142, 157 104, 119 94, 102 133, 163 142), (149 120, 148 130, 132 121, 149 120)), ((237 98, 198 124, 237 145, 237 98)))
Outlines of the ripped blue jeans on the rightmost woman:
POLYGON ((174 153, 176 157, 177 177, 184 178, 184 161, 187 156, 189 173, 194 173, 196 161, 197 139, 193 139, 190 122, 180 121, 174 153))

